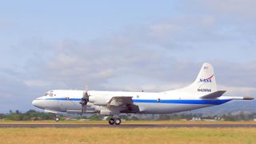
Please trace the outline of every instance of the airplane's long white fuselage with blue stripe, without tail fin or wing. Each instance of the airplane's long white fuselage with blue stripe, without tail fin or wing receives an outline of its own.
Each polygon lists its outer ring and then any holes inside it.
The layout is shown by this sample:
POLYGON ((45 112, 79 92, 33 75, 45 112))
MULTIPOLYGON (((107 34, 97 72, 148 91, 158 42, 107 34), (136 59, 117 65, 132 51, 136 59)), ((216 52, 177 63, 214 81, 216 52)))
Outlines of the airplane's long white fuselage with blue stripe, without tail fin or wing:
MULTIPOLYGON (((42 96, 34 100, 36 106, 46 110, 55 110, 68 113, 76 113, 81 110, 83 90, 53 90, 53 96, 42 96)), ((138 106, 136 114, 170 114, 186 110, 194 110, 207 106, 219 105, 232 99, 201 99, 193 94, 182 93, 148 93, 148 92, 123 92, 123 91, 95 91, 90 90, 90 101, 87 104, 88 111, 101 110, 113 96, 132 97, 134 105, 138 106)), ((96 112, 96 111, 95 111, 96 112)), ((122 113, 122 112, 121 112, 122 113)), ((129 112, 125 112, 129 113, 129 112)))

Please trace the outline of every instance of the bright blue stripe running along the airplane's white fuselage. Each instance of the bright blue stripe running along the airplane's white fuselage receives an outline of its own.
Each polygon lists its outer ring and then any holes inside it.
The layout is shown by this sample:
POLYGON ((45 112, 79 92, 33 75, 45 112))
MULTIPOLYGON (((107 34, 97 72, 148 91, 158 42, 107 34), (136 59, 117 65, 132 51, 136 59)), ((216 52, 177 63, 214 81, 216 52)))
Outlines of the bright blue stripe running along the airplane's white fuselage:
MULTIPOLYGON (((59 101, 81 101, 81 98, 46 98, 38 100, 59 100, 59 101)), ((177 104, 202 104, 202 105, 220 105, 229 102, 232 99, 217 99, 217 100, 203 100, 203 99, 169 99, 158 102, 156 99, 133 99, 134 103, 177 103, 177 104)))

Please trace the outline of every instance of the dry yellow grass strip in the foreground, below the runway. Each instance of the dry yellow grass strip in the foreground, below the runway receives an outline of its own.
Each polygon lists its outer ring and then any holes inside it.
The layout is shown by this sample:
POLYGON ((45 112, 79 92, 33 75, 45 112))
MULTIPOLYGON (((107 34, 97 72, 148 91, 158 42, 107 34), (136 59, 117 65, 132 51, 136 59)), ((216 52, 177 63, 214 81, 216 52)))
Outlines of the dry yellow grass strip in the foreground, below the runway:
POLYGON ((0 143, 255 143, 255 128, 1 128, 0 143))

